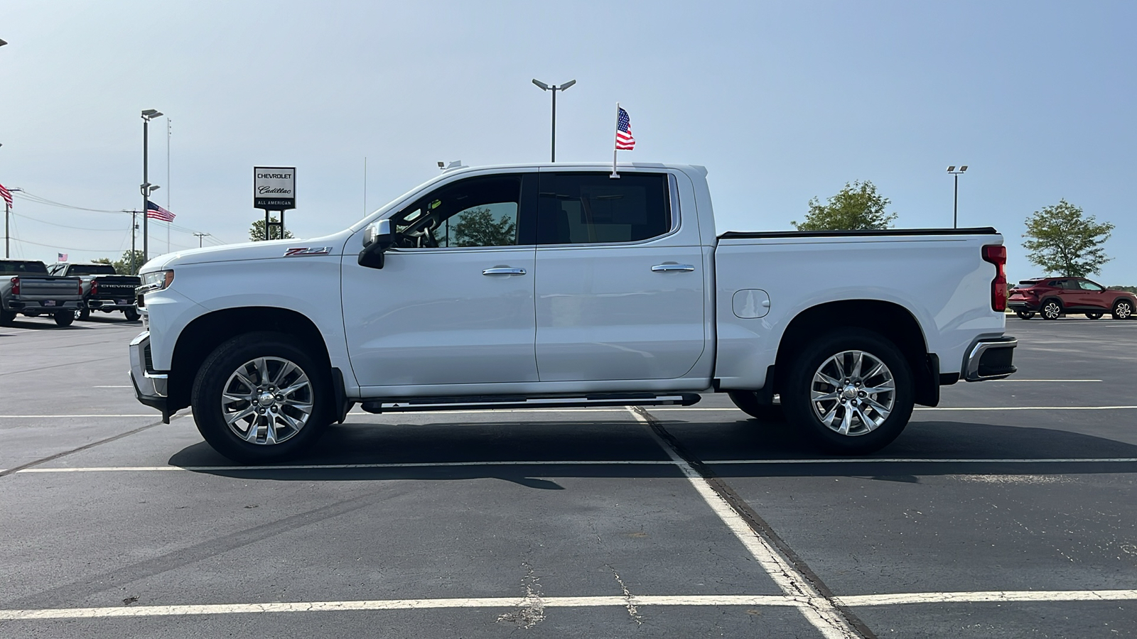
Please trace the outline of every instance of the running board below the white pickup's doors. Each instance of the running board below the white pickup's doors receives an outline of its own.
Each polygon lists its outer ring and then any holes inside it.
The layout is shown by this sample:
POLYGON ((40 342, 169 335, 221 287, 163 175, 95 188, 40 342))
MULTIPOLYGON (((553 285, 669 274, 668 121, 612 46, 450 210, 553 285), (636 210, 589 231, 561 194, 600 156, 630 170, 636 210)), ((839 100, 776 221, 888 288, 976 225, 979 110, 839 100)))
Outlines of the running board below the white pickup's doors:
POLYGON ((654 395, 644 392, 608 392, 583 397, 413 397, 407 399, 372 399, 359 406, 367 413, 406 413, 413 410, 488 410, 492 408, 586 408, 589 406, 690 406, 702 396, 696 393, 654 395))

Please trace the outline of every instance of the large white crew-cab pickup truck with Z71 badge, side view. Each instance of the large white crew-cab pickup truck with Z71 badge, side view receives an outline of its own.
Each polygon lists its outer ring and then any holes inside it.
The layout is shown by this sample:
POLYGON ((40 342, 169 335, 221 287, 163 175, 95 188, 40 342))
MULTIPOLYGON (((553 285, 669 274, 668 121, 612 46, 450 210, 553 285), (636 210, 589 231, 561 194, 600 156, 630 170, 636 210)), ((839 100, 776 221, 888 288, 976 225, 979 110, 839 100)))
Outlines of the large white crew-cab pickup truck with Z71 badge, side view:
POLYGON ((364 410, 690 405, 893 441, 1014 372, 994 229, 717 234, 699 166, 450 171, 313 240, 150 260, 138 399, 241 462, 364 410))

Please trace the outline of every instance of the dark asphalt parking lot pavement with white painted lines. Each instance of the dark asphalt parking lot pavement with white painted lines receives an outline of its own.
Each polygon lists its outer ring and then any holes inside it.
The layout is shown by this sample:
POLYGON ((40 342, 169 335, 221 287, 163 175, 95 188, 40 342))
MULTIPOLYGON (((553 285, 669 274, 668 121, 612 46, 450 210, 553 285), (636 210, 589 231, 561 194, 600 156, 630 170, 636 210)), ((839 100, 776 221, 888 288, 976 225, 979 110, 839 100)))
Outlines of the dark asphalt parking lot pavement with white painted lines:
POLYGON ((121 315, 0 329, 0 637, 1137 637, 1137 322, 819 455, 687 408, 352 412, 235 465, 121 315))

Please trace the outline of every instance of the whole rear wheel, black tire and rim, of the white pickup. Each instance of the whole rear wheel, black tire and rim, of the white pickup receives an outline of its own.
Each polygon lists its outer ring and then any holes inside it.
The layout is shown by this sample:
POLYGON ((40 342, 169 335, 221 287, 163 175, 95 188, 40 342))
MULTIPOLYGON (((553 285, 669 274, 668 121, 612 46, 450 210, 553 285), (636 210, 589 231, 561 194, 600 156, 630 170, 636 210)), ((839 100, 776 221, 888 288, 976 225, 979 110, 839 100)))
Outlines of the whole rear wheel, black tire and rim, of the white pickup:
POLYGON ((781 393, 789 421, 838 455, 866 455, 891 443, 907 425, 914 398, 904 355, 863 329, 837 330, 805 347, 781 393))

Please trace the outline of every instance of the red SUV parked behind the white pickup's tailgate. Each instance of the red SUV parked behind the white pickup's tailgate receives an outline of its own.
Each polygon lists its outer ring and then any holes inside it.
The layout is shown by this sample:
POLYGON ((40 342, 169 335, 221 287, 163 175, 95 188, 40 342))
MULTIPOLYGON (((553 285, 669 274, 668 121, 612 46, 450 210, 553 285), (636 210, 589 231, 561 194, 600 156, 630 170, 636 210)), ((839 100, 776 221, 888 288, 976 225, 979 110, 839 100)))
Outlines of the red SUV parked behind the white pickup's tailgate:
POLYGON ((1019 282, 1006 306, 1022 320, 1035 313, 1043 320, 1057 320, 1064 313, 1085 313, 1090 320, 1110 313, 1114 320, 1129 320, 1137 308, 1137 296, 1111 291, 1085 277, 1040 277, 1019 282))

